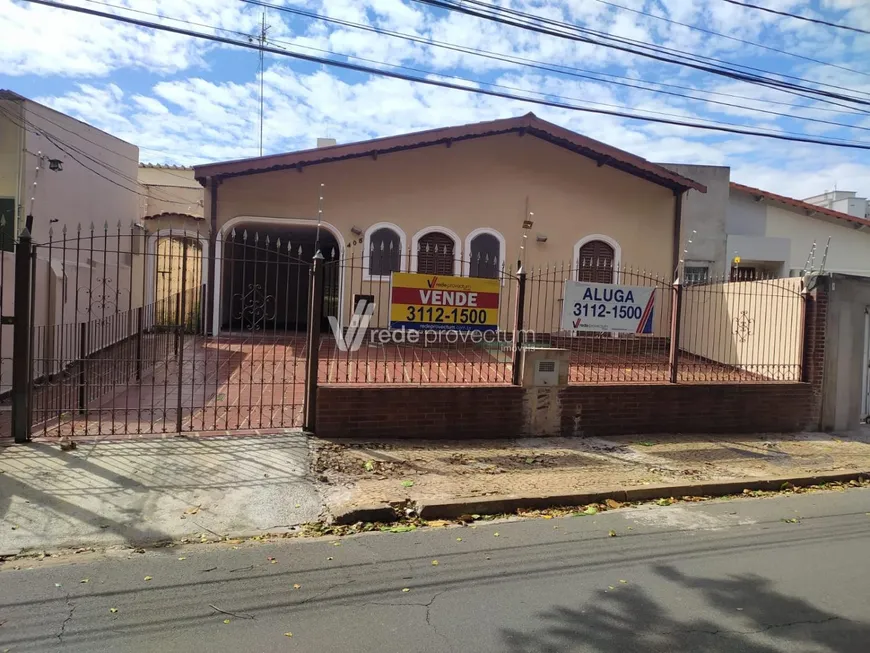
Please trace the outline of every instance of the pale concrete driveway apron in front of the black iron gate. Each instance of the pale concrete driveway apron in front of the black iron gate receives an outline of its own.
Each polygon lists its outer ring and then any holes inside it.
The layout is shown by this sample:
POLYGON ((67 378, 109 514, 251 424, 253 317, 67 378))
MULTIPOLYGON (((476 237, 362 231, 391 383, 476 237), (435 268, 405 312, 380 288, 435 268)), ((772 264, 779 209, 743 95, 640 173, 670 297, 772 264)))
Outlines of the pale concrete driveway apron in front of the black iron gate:
POLYGON ((137 545, 316 520, 309 445, 280 435, 0 447, 0 555, 137 545))

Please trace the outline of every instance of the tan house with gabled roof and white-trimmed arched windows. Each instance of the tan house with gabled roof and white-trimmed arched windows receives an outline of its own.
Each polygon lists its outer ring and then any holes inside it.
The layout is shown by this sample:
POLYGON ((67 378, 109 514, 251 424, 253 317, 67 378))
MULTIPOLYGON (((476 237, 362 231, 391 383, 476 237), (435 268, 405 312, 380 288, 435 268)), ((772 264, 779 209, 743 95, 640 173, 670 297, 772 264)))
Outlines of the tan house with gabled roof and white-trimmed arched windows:
MULTIPOLYGON (((200 165, 194 175, 216 250, 215 331, 233 328, 234 302, 245 301, 231 286, 261 274, 248 261, 221 285, 222 259, 239 258, 240 238, 280 239, 305 263, 315 248, 357 261, 335 280, 346 320, 354 295, 389 292, 393 271, 498 277, 561 263, 589 281, 611 282, 620 267, 671 278, 683 195, 705 192, 534 114, 200 165)), ((270 312, 275 323, 292 322, 287 307, 301 301, 298 278, 288 285, 289 299, 273 299, 285 306, 270 312)), ((379 311, 373 325, 386 322, 379 311)))

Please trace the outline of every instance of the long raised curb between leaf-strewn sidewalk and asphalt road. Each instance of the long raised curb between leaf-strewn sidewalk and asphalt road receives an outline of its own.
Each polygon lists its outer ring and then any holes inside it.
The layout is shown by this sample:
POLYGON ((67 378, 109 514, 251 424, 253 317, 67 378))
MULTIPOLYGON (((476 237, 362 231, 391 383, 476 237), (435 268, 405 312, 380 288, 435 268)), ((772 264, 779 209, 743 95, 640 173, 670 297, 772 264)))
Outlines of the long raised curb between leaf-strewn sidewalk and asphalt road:
POLYGON ((785 484, 794 487, 806 487, 809 485, 822 485, 824 483, 848 482, 862 478, 870 478, 870 472, 836 472, 817 474, 815 476, 777 476, 773 478, 736 481, 705 481, 690 485, 645 485, 637 488, 616 488, 600 492, 581 492, 564 495, 527 497, 508 495, 486 499, 453 499, 439 503, 418 503, 417 514, 421 519, 456 519, 461 515, 495 515, 516 512, 521 509, 540 510, 558 506, 603 503, 607 499, 614 499, 619 502, 631 502, 683 496, 716 497, 741 494, 744 490, 781 490, 785 484))

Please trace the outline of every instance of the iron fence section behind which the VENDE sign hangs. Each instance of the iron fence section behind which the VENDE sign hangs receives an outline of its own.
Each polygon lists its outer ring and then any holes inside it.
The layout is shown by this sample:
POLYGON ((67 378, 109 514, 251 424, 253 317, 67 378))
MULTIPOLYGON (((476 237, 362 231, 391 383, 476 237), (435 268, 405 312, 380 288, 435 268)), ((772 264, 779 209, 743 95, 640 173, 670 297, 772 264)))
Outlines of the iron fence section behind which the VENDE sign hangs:
MULTIPOLYGON (((483 271, 494 295, 487 308, 426 306, 426 300, 407 298, 392 283, 393 271, 416 271, 418 259, 409 253, 381 251, 351 254, 326 261, 325 276, 341 288, 342 301, 327 305, 331 321, 319 342, 318 381, 323 383, 382 384, 509 384, 512 380, 513 333, 518 279, 510 265, 446 259, 442 273, 457 288, 469 280, 480 283, 472 270, 483 271), (455 273, 455 274, 454 274, 455 273), (394 298, 396 301, 393 301, 394 298), (494 305, 492 305, 494 304, 494 305), (360 316, 368 310, 362 320, 360 316), (394 314, 391 314, 391 311, 394 314), (399 311, 399 312, 396 312, 399 311), (428 311, 428 312, 427 312, 428 311), (410 312, 410 313, 409 313, 410 312), (417 326, 407 326, 416 322, 417 326), (477 328, 475 324, 477 323, 477 328), (483 323, 486 322, 486 330, 483 323), (365 333, 354 347, 359 329, 365 333), (336 338, 336 332, 340 338, 336 338)), ((327 284, 329 287, 329 284, 327 284)), ((470 286, 469 286, 470 287, 470 286)), ((427 290, 423 289, 423 292, 427 290)))

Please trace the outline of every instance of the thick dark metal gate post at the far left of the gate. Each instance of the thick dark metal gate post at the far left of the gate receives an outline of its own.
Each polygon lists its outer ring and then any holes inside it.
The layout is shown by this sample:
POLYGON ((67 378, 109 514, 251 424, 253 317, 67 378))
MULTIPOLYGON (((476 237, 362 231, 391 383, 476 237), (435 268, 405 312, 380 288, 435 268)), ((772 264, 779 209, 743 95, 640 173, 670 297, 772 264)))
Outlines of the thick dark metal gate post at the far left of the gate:
POLYGON ((15 442, 30 441, 31 393, 33 368, 31 333, 31 289, 33 284, 33 243, 25 228, 15 247, 15 327, 12 334, 12 433, 15 442))

